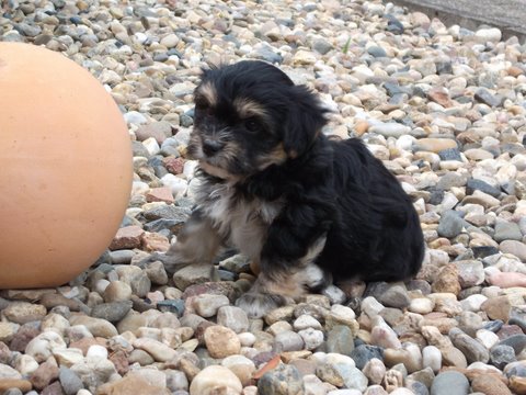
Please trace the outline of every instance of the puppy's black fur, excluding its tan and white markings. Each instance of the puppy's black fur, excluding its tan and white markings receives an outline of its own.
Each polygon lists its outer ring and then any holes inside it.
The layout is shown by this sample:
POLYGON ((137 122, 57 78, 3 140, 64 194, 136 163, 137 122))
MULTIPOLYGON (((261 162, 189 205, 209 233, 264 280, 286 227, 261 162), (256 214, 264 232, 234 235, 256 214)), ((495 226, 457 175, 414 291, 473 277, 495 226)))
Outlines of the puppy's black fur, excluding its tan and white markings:
POLYGON ((225 124, 238 122, 235 98, 250 98, 268 112, 271 124, 259 136, 236 136, 248 157, 278 143, 291 154, 262 171, 244 170, 236 184, 243 199, 286 201, 263 244, 263 272, 289 269, 323 234, 325 247, 316 263, 335 279, 395 281, 419 271, 424 241, 409 196, 361 140, 335 142, 320 133, 325 111, 315 94, 261 61, 207 70, 203 82, 216 88, 216 116, 225 124))

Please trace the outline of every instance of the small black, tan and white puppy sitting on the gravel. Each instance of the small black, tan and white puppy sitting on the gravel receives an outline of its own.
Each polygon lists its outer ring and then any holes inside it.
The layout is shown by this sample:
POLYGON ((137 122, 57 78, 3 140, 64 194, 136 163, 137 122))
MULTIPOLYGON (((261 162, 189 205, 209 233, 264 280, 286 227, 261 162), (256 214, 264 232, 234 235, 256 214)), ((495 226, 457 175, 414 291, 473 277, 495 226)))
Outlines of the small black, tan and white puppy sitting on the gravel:
MULTIPOLYGON (((415 274, 424 241, 409 196, 358 139, 328 139, 325 110, 263 61, 203 71, 188 155, 196 207, 161 260, 208 262, 230 246, 261 273, 237 304, 250 317, 335 279, 415 274)), ((159 258, 159 257, 158 257, 159 258)))

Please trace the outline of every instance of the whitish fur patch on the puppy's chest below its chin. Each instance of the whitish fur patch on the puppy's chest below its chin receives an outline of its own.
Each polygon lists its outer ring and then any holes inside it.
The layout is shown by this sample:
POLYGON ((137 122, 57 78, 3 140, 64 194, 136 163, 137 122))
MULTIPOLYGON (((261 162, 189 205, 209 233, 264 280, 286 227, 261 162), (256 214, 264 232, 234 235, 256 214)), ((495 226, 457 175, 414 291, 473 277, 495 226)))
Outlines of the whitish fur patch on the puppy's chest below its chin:
POLYGON ((258 258, 268 226, 279 214, 282 202, 244 199, 229 185, 220 185, 201 202, 204 213, 213 219, 219 234, 249 257, 258 258))

